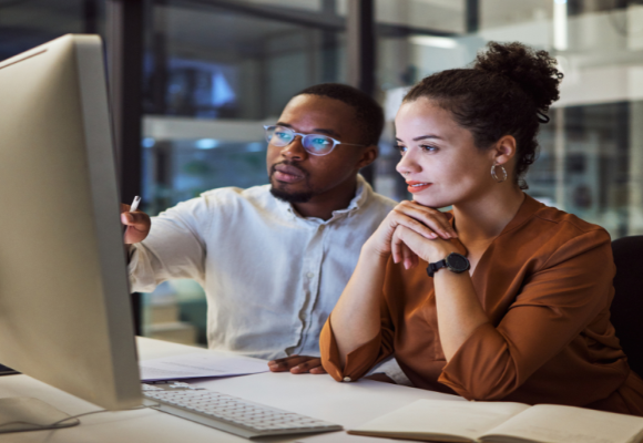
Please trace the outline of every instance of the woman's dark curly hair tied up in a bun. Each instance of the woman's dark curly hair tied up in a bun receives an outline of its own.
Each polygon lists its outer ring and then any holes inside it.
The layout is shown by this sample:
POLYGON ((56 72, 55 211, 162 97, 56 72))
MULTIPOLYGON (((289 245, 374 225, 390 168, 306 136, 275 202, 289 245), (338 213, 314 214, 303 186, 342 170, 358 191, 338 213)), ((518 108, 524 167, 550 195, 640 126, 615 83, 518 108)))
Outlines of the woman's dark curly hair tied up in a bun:
POLYGON ((479 148, 512 135, 517 142, 513 179, 527 189, 522 177, 537 157, 539 122, 559 99, 563 74, 547 51, 518 42, 489 42, 487 47, 472 68, 429 75, 411 87, 404 102, 436 101, 471 131, 479 148))

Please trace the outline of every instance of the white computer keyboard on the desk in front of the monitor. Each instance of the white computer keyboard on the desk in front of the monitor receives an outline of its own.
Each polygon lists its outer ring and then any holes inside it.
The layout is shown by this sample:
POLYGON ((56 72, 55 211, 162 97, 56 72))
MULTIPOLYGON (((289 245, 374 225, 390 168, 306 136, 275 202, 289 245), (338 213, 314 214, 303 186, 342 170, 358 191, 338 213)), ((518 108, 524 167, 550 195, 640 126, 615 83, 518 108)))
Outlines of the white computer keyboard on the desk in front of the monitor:
POLYGON ((338 424, 253 403, 183 382, 142 384, 153 409, 246 439, 341 431, 338 424))

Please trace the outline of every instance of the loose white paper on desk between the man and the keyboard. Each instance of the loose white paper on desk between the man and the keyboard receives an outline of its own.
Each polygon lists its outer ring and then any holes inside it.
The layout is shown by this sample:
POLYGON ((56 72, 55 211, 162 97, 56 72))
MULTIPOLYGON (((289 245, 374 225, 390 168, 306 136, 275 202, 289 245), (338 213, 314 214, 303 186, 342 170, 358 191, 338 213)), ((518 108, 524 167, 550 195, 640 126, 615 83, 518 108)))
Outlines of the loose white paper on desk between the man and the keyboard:
POLYGON ((141 381, 247 375, 268 371, 268 362, 248 357, 188 353, 139 363, 141 381))

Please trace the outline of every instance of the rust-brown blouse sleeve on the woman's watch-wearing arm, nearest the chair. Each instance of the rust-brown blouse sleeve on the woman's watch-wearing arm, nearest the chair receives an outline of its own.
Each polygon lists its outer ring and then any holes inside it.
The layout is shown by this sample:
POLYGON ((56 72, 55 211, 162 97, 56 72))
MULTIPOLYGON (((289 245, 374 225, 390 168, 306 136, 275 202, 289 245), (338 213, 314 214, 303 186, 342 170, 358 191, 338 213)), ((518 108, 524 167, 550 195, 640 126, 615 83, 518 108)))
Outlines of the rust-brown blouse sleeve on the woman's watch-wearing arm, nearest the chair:
POLYGON ((498 327, 480 326, 439 382, 469 400, 501 400, 563 350, 611 301, 610 236, 572 238, 532 274, 498 327))

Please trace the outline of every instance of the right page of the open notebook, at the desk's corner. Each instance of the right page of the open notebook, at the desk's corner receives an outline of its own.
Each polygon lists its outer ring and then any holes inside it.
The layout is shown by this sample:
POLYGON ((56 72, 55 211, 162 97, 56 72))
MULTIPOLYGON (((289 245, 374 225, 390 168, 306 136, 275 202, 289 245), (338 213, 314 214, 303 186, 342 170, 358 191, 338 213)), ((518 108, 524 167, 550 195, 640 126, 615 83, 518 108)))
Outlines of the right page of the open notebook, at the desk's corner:
POLYGON ((499 425, 491 435, 510 435, 551 443, 630 443, 643 430, 639 416, 589 409, 539 404, 499 425))

